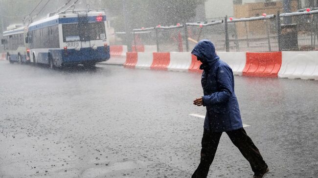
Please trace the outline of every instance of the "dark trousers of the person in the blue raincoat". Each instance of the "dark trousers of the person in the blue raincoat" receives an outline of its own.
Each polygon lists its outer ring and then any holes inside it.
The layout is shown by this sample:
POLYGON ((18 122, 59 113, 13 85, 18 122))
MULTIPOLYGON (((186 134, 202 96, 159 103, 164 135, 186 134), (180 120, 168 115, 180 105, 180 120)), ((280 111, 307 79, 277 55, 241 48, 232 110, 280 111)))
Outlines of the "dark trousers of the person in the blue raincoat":
MULTIPOLYGON (((242 155, 250 162, 250 166, 254 173, 262 173, 267 169, 267 164, 243 128, 227 131, 226 133, 233 144, 240 150, 242 155)), ((201 161, 197 170, 192 175, 192 178, 206 178, 221 135, 222 132, 209 132, 204 129, 201 161)))

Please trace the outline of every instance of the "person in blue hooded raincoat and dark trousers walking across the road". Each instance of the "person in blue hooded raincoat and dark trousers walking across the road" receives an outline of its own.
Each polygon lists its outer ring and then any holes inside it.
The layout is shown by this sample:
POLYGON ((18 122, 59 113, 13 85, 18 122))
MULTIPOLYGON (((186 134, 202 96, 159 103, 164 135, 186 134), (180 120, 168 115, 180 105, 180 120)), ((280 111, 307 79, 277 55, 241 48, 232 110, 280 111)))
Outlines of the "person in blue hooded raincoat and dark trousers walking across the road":
POLYGON ((223 132, 250 162, 253 178, 264 178, 269 168, 243 128, 232 69, 216 55, 209 40, 199 41, 191 53, 202 62, 204 92, 193 104, 206 106, 201 161, 192 178, 206 178, 223 132))

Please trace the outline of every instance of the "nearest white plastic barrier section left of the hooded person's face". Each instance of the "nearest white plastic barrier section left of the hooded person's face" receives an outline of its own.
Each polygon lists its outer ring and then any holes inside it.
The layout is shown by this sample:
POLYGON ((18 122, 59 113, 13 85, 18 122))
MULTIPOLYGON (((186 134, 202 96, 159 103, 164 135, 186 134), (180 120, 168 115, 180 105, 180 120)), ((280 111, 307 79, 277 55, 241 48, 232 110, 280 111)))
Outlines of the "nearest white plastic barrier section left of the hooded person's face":
POLYGON ((170 63, 168 70, 170 71, 188 71, 192 62, 192 55, 190 52, 171 52, 170 63))

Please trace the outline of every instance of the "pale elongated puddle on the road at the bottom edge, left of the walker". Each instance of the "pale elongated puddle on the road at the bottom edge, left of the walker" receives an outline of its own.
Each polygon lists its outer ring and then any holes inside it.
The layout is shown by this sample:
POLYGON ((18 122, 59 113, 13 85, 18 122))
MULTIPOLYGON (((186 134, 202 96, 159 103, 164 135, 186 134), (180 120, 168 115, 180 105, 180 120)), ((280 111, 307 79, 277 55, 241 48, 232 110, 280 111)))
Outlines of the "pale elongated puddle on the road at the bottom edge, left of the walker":
MULTIPOLYGON (((125 162, 116 162, 112 165, 107 167, 100 167, 100 168, 90 168, 86 170, 82 175, 81 178, 95 178, 103 175, 107 175, 108 173, 115 172, 115 171, 124 171, 130 169, 137 169, 137 168, 144 168, 148 165, 148 162, 141 161, 141 160, 129 160, 125 162)), ((129 178, 129 177, 125 177, 129 178)))

